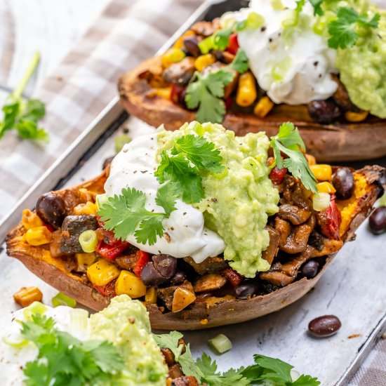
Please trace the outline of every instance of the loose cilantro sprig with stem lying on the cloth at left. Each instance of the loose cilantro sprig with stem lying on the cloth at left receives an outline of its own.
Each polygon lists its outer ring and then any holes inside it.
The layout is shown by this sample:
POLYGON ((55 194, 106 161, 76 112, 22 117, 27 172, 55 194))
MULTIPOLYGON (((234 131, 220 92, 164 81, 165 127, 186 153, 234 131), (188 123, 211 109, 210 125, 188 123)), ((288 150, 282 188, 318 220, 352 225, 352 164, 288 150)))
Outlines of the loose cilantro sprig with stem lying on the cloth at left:
POLYGON ((25 100, 22 92, 39 63, 40 55, 35 53, 22 81, 13 93, 8 95, 2 110, 4 119, 0 122, 0 139, 9 130, 16 130, 22 139, 48 141, 48 133, 39 128, 38 121, 46 114, 44 103, 37 99, 25 100))

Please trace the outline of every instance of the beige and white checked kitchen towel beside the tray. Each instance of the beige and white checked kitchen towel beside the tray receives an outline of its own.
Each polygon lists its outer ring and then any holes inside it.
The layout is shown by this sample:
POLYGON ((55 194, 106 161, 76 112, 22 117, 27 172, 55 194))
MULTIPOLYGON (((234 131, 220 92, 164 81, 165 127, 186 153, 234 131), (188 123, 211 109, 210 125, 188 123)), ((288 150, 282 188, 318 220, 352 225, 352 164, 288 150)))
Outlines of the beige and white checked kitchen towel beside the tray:
MULTIPOLYGON (((6 133, 0 142, 0 221, 117 95, 119 76, 154 55, 202 2, 109 2, 98 20, 33 95, 46 103, 42 126, 50 133, 48 145, 40 147, 20 140, 15 133, 6 133)), ((8 16, 0 13, 3 29, 8 16)), ((1 55, 0 65, 9 65, 11 60, 1 55)))

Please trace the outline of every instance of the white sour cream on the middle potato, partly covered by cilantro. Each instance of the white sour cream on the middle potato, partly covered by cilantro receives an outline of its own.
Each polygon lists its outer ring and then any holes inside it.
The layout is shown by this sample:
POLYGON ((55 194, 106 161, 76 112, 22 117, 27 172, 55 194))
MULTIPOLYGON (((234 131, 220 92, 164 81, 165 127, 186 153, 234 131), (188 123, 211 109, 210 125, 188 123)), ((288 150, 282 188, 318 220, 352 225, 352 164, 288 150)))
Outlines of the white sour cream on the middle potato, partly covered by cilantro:
MULTIPOLYGON (((112 161, 105 183, 107 196, 119 195, 127 187, 135 188, 146 194, 147 211, 164 213, 164 209, 155 203, 160 186, 154 176, 156 157, 157 134, 142 135, 126 144, 112 161)), ((200 211, 182 200, 177 200, 175 206, 177 209, 163 222, 164 236, 159 237, 155 244, 138 243, 134 235, 128 236, 126 241, 155 255, 165 253, 175 258, 191 256, 195 262, 202 262, 224 251, 224 241, 204 226, 204 216, 200 211)))

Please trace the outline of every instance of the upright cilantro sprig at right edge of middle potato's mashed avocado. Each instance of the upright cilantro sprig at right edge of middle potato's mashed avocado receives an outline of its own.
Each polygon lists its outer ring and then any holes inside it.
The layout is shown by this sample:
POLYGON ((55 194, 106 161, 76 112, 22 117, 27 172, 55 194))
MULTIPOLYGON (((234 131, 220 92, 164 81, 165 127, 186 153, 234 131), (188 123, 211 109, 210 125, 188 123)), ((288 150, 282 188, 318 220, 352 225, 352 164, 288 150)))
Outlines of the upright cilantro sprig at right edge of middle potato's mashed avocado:
POLYGON ((302 151, 305 151, 305 144, 300 137, 298 128, 295 128, 291 122, 281 124, 279 133, 271 137, 271 147, 274 151, 276 166, 279 169, 288 168, 293 177, 302 181, 306 189, 316 193, 317 179, 302 153, 302 151), (283 159, 281 152, 286 154, 288 158, 283 159))

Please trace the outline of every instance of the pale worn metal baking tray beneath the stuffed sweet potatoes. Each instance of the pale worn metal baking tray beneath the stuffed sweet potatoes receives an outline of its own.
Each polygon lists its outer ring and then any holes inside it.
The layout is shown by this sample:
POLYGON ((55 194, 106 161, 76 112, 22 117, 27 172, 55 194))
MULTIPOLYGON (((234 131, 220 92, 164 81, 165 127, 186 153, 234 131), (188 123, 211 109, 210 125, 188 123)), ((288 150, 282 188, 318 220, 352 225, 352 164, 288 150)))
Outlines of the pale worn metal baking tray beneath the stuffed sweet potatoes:
MULTIPOLYGON (((225 11, 237 10, 247 4, 245 0, 206 1, 157 53, 166 51, 197 20, 212 20, 225 11)), ((118 98, 112 100, 1 222, 0 240, 20 220, 23 208, 33 208, 39 194, 76 185, 97 175, 102 160, 113 154, 114 132, 127 119, 128 114, 119 105, 118 98)), ((128 121, 129 128, 138 128, 133 117, 128 121)), ((386 165, 385 159, 379 161, 386 165)), ((220 370, 251 364, 253 354, 262 353, 288 361, 302 373, 317 376, 322 385, 347 385, 386 331, 385 270, 379 253, 385 248, 386 239, 374 237, 366 225, 362 225, 357 232, 357 241, 342 248, 314 291, 284 310, 254 321, 185 333, 193 354, 208 350, 208 338, 221 332, 231 338, 234 347, 218 359, 220 370), (322 314, 336 314, 342 320, 342 328, 335 337, 315 340, 306 334, 307 323, 322 314)), ((0 255, 0 291, 4 294, 0 326, 4 323, 4 315, 15 307, 12 293, 25 285, 38 285, 46 300, 55 293, 20 262, 6 258, 3 251, 0 255)))

